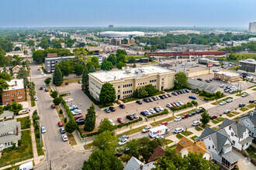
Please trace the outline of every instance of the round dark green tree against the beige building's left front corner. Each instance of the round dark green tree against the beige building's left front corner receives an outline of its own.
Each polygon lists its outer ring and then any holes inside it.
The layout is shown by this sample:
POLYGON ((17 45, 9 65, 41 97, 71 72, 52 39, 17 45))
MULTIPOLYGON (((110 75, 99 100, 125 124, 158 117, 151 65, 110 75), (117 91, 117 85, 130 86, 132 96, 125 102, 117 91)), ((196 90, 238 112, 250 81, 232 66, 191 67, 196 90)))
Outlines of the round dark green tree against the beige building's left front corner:
POLYGON ((104 83, 99 93, 99 100, 102 104, 109 104, 116 100, 116 90, 111 83, 104 83))

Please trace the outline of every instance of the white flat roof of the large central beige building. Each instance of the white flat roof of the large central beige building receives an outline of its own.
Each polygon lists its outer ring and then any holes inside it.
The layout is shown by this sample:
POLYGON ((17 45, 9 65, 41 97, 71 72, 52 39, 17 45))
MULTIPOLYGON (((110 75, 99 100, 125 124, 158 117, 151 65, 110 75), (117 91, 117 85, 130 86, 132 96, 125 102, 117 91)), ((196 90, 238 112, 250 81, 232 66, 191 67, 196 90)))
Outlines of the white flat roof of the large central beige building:
POLYGON ((131 68, 128 70, 113 70, 113 71, 104 71, 104 72, 96 72, 96 73, 89 73, 89 74, 91 74, 92 76, 95 76, 97 79, 99 79, 102 82, 109 82, 112 80, 123 80, 125 78, 130 78, 130 77, 134 77, 136 79, 140 75, 142 76, 142 75, 153 74, 153 73, 170 73, 170 72, 174 72, 174 71, 162 68, 160 66, 142 66, 142 67, 131 68), (141 73, 140 70, 143 70, 143 72, 141 73))

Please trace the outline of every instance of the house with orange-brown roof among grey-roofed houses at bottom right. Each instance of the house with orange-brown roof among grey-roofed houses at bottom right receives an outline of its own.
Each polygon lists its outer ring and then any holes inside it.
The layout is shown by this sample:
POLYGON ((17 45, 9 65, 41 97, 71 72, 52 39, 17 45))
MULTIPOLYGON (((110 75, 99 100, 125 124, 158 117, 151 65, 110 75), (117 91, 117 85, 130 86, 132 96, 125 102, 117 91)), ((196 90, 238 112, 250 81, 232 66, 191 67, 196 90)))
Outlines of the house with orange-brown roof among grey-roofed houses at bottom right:
POLYGON ((186 137, 183 137, 180 141, 178 141, 176 152, 182 155, 182 158, 184 158, 184 155, 188 155, 189 152, 194 152, 198 155, 202 153, 202 158, 206 158, 206 160, 212 158, 211 152, 207 151, 206 145, 203 143, 203 141, 196 142, 186 137))

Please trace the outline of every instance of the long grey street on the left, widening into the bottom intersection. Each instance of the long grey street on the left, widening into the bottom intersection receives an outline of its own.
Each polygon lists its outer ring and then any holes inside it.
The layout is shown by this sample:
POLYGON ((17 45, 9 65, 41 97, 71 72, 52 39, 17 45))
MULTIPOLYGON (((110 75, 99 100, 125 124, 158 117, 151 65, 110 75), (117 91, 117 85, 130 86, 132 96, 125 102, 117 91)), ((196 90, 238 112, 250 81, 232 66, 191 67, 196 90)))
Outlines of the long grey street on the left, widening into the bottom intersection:
POLYGON ((39 90, 43 86, 43 80, 47 75, 42 75, 38 66, 31 65, 32 81, 36 84, 36 105, 40 114, 42 125, 47 132, 43 134, 44 147, 46 149, 45 161, 35 169, 81 169, 85 159, 88 159, 90 151, 74 151, 68 142, 62 141, 61 133, 57 126, 59 117, 56 110, 52 109, 49 93, 39 90))

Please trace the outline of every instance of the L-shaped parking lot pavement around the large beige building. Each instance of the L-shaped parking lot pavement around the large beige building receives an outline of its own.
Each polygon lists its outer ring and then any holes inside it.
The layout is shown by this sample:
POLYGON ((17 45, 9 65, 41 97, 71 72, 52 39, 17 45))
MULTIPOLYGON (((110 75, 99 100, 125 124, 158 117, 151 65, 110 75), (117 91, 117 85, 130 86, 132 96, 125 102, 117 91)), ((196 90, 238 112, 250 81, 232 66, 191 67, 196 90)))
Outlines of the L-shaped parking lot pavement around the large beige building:
MULTIPOLYGON (((76 104, 78 108, 82 111, 81 115, 85 116, 88 107, 92 105, 92 101, 81 91, 81 84, 79 83, 70 83, 67 86, 64 87, 57 87, 57 90, 59 93, 70 93, 70 95, 64 96, 63 99, 66 100, 67 98, 74 99, 71 102, 68 102, 67 104, 76 104)), ((121 109, 118 107, 117 104, 115 104, 116 111, 110 112, 109 114, 104 111, 104 109, 99 109, 97 105, 95 105, 95 111, 96 111, 96 124, 99 125, 100 121, 104 119, 105 117, 111 119, 114 121, 115 124, 119 124, 117 121, 117 118, 123 118, 123 121, 130 121, 126 118, 126 115, 129 114, 137 114, 139 117, 144 117, 140 114, 140 111, 149 110, 150 108, 154 108, 157 106, 161 106, 164 109, 168 109, 170 112, 171 110, 166 107, 167 103, 174 103, 176 101, 182 101, 182 103, 186 104, 187 102, 191 102, 192 99, 189 98, 190 95, 196 96, 195 93, 182 93, 178 94, 178 96, 171 95, 171 97, 161 99, 161 100, 154 100, 153 102, 146 103, 142 101, 142 104, 137 104, 136 101, 132 101, 125 104, 125 108, 121 109)), ((205 101, 200 100, 199 98, 196 99, 198 104, 204 104, 205 101)))

